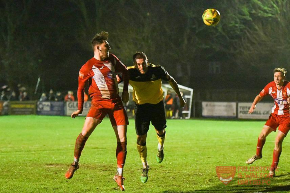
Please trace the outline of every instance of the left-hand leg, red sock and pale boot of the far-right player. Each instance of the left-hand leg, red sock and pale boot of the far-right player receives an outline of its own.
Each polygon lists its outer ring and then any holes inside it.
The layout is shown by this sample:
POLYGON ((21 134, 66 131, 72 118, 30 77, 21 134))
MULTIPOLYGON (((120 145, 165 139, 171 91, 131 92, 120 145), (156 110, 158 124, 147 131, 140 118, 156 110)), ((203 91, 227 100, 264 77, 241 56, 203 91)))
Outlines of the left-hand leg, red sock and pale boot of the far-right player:
POLYGON ((269 126, 264 125, 259 137, 258 137, 258 143, 257 143, 257 148, 256 148, 256 154, 253 155, 253 157, 249 158, 246 163, 247 164, 252 164, 254 163, 256 160, 261 159, 262 158, 262 149, 263 146, 266 142, 266 137, 272 132, 274 131, 274 129, 272 129, 269 126))

